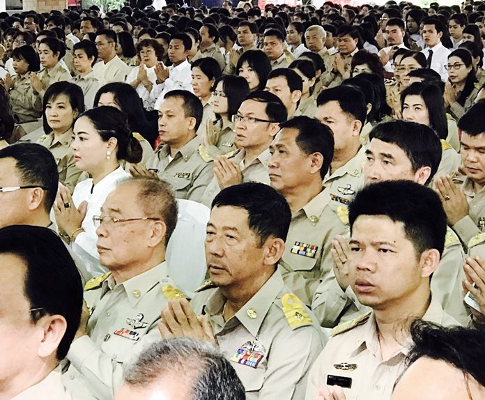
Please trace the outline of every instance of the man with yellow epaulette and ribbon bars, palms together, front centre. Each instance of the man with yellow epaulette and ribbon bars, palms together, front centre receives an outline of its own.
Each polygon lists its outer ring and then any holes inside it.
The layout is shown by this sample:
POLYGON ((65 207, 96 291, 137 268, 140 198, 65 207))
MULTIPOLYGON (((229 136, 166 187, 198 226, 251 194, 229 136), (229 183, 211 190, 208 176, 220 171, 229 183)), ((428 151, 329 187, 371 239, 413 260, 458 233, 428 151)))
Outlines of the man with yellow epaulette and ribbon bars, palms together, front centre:
POLYGON ((217 344, 248 400, 302 399, 322 348, 311 311, 277 269, 291 220, 281 194, 261 183, 228 187, 214 200, 206 238, 210 279, 192 300, 171 301, 160 332, 217 344))

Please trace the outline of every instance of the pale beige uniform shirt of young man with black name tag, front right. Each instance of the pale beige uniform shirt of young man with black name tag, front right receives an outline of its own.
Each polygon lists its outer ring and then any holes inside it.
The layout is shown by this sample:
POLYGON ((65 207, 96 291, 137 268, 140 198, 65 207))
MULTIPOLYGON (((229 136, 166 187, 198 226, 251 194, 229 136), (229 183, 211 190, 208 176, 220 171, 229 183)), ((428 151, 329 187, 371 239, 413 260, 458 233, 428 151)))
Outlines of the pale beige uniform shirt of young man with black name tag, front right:
MULTIPOLYGON (((459 325, 434 300, 423 319, 445 326, 459 325)), ((344 389, 347 400, 389 400, 394 383, 405 369, 409 345, 382 360, 373 312, 340 325, 332 331, 330 341, 311 368, 305 400, 317 399, 318 388, 327 384, 329 375, 352 379, 351 388, 344 389)))

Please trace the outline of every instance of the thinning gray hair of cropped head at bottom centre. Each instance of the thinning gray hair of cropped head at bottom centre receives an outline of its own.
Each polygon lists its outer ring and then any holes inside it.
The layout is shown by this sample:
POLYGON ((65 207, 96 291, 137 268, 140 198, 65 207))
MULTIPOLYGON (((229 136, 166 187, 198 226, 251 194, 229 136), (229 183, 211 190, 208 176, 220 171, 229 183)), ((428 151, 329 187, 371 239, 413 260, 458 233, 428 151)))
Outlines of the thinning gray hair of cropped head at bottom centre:
POLYGON ((181 377, 190 389, 190 400, 246 399, 244 386, 229 360, 212 345, 187 337, 148 346, 123 376, 125 383, 134 387, 181 377))

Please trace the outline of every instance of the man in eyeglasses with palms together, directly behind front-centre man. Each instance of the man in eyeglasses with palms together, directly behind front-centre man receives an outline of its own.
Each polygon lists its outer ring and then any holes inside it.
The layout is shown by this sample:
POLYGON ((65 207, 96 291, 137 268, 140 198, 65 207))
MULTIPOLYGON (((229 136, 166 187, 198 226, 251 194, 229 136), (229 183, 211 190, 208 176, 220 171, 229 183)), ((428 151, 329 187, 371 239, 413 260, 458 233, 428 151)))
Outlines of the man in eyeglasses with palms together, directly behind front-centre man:
POLYGON ((246 96, 233 116, 234 144, 239 150, 214 160, 214 178, 202 197, 206 206, 226 187, 242 182, 270 184, 270 144, 286 117, 286 107, 273 93, 254 91, 246 96))

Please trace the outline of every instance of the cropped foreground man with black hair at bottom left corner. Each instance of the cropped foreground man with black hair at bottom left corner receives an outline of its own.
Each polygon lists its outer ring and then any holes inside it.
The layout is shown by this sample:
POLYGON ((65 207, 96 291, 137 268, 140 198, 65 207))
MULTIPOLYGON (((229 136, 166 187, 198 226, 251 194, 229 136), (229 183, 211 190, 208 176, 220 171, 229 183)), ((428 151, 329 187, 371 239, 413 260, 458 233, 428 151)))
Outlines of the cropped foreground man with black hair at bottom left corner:
POLYGON ((71 400, 60 362, 79 326, 82 284, 61 238, 40 226, 0 229, 0 285, 0 398, 71 400))

